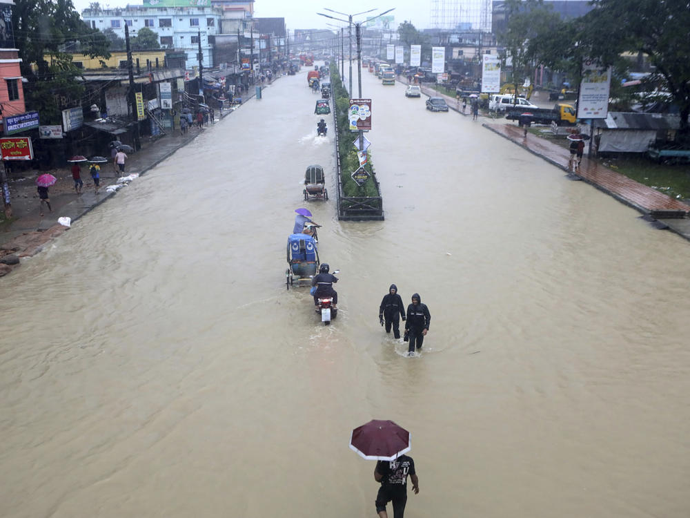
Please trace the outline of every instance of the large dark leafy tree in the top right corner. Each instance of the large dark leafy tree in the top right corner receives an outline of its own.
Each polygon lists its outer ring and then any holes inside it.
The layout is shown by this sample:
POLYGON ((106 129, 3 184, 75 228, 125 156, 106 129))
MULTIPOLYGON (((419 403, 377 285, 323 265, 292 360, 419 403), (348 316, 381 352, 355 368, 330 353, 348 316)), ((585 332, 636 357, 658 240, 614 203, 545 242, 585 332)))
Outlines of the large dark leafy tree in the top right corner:
POLYGON ((690 141, 690 9, 687 0, 593 0, 584 15, 591 57, 613 64, 643 52, 680 109, 681 140, 690 141))

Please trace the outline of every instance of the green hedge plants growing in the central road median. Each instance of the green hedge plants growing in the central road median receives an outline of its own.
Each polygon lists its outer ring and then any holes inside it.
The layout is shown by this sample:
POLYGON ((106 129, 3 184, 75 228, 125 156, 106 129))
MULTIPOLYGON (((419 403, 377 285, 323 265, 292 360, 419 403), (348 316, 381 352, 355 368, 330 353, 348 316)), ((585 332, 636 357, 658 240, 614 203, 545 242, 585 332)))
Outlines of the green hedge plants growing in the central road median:
POLYGON ((359 159, 357 158, 357 151, 352 141, 355 140, 357 133, 350 131, 347 117, 348 108, 350 108, 350 96, 344 88, 338 71, 331 68, 331 89, 333 90, 333 105, 335 106, 335 117, 337 117, 338 125, 338 154, 340 156, 340 166, 342 167, 342 189, 346 196, 379 196, 380 193, 374 182, 375 173, 371 165, 371 153, 369 161, 364 169, 371 175, 362 186, 358 186, 357 182, 353 180, 350 173, 359 168, 359 159))

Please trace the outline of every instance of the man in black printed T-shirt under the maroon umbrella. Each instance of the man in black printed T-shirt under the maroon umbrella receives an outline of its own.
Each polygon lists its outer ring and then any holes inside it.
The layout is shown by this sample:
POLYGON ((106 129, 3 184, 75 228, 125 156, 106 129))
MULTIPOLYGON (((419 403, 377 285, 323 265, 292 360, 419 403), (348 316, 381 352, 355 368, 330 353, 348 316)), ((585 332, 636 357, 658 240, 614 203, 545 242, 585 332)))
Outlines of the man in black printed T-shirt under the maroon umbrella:
POLYGON ((400 455, 395 461, 378 461, 374 468, 374 479, 381 483, 376 495, 376 512, 380 518, 388 518, 386 503, 393 501, 393 518, 403 518, 407 503, 407 476, 412 480, 412 490, 420 492, 420 479, 415 472, 415 461, 407 455, 400 455))

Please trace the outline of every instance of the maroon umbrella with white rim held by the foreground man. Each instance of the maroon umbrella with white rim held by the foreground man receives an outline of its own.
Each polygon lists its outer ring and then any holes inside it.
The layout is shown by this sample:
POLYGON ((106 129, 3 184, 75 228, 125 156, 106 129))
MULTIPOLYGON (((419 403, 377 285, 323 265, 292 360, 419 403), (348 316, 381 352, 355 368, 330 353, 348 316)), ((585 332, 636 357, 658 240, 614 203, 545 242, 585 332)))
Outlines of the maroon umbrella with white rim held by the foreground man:
POLYGON ((410 432, 393 421, 374 419, 352 431, 350 448, 360 457, 373 461, 395 461, 410 451, 410 432))

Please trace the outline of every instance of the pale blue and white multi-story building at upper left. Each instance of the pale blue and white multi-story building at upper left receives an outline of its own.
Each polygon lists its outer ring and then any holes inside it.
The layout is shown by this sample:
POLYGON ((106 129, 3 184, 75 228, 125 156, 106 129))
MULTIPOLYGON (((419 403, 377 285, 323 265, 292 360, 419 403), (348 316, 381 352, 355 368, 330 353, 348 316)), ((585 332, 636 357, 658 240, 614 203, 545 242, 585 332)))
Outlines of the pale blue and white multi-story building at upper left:
POLYGON ((210 0, 206 1, 206 6, 170 7, 175 3, 173 0, 145 0, 144 6, 84 9, 81 17, 92 28, 112 29, 121 38, 125 37, 125 26, 130 37, 136 36, 141 28, 148 28, 158 35, 161 47, 185 52, 188 66, 198 62, 200 39, 201 64, 211 67, 214 66, 213 44, 208 37, 220 32, 222 12, 211 7, 210 0))

